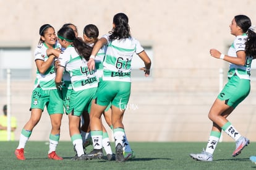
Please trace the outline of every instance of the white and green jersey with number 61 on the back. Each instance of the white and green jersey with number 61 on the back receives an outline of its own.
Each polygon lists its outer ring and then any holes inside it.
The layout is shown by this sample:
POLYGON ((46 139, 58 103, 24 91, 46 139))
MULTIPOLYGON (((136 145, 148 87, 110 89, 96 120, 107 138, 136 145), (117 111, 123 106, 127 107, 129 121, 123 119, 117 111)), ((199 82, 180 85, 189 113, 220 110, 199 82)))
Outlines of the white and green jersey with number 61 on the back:
POLYGON ((108 41, 103 61, 103 80, 130 82, 132 56, 144 49, 139 41, 129 37, 122 40, 109 41, 109 35, 104 35, 108 41))

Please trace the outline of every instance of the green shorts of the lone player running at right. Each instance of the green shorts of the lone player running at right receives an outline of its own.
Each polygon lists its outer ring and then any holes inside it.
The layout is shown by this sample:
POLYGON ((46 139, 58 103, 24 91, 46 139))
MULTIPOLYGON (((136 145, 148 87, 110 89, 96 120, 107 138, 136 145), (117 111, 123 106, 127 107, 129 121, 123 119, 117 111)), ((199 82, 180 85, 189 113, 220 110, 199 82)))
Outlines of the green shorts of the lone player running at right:
POLYGON ((236 108, 250 93, 250 80, 240 79, 237 75, 228 78, 228 83, 218 95, 218 99, 236 108))

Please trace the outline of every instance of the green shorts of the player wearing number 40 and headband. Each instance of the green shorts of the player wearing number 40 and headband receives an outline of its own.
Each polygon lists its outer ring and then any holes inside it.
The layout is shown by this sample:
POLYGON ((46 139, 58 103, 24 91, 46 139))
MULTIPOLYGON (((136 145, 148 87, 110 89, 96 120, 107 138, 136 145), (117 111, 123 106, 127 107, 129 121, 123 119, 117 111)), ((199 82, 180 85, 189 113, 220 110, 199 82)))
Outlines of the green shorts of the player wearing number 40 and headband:
POLYGON ((90 111, 93 96, 97 88, 88 88, 86 90, 74 91, 70 95, 70 109, 67 114, 72 112, 74 116, 81 116, 83 111, 90 111))

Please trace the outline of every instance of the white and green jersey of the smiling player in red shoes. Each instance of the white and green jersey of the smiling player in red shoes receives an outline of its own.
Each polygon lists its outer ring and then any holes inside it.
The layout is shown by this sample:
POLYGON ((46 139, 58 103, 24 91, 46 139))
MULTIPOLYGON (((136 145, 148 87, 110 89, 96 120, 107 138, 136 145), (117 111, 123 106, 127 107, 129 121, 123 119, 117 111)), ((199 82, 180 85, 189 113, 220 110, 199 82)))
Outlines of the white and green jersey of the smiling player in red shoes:
MULTIPOLYGON (((54 48, 60 48, 59 44, 56 43, 54 48)), ((42 61, 47 61, 48 56, 46 54, 46 50, 48 47, 45 43, 38 45, 35 49, 35 61, 40 59, 42 61)), ((54 72, 54 62, 51 64, 48 70, 46 70, 45 74, 40 74, 39 70, 36 69, 36 80, 34 88, 40 86, 43 90, 51 90, 56 89, 55 85, 55 72, 54 72)))

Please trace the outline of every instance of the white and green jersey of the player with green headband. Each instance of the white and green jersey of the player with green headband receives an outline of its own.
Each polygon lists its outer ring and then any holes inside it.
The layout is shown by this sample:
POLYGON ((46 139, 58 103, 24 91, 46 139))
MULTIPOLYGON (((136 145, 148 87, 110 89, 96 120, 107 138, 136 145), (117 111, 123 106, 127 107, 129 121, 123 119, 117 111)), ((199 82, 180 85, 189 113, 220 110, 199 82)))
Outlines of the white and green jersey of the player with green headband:
POLYGON ((75 91, 98 87, 94 71, 89 71, 88 62, 77 54, 73 46, 68 46, 59 55, 59 61, 61 66, 69 72, 72 87, 75 91))

